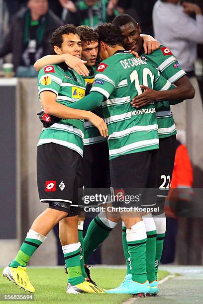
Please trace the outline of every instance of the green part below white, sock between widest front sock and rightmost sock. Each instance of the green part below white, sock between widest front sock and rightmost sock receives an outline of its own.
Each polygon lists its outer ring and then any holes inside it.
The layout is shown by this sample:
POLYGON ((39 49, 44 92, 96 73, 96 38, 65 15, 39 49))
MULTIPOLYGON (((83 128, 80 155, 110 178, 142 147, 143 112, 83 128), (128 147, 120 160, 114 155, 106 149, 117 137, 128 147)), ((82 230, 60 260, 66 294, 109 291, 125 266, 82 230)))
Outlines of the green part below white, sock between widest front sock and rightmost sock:
POLYGON ((156 256, 156 230, 147 231, 146 242, 146 270, 149 283, 156 280, 155 276, 155 256, 156 256))

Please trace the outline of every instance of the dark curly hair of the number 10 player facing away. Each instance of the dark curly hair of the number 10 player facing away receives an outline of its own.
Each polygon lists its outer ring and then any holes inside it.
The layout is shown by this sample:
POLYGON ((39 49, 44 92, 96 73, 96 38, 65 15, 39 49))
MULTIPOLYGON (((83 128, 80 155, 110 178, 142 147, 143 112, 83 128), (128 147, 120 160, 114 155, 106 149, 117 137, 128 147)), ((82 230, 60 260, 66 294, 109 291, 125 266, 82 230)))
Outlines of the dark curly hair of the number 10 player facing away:
POLYGON ((110 47, 123 45, 123 38, 119 28, 112 23, 103 23, 98 26, 96 31, 99 34, 99 42, 103 41, 110 47))

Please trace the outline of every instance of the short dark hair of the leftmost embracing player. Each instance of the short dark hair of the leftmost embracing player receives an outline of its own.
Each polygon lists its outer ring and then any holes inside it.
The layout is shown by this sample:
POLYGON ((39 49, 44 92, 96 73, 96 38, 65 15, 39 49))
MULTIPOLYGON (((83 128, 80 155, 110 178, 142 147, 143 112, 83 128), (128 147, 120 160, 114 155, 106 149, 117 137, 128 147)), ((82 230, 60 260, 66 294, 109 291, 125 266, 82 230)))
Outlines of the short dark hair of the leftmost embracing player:
POLYGON ((63 37, 62 35, 69 35, 69 34, 78 34, 78 31, 75 27, 75 25, 73 24, 66 24, 66 25, 62 25, 60 27, 58 27, 52 34, 51 37, 51 48, 53 53, 54 52, 54 46, 58 46, 59 48, 61 48, 61 45, 63 43, 63 37))

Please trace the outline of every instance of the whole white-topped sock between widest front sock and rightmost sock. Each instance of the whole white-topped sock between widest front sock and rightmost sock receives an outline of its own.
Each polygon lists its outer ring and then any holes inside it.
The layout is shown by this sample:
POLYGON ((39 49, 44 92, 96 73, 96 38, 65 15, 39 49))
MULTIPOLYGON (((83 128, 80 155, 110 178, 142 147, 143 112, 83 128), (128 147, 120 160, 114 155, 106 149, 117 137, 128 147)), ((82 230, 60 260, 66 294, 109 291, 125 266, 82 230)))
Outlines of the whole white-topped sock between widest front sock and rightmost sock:
POLYGON ((156 237, 157 231, 152 214, 142 216, 147 232, 146 242, 146 270, 149 283, 156 280, 155 277, 155 256, 156 256, 156 237))

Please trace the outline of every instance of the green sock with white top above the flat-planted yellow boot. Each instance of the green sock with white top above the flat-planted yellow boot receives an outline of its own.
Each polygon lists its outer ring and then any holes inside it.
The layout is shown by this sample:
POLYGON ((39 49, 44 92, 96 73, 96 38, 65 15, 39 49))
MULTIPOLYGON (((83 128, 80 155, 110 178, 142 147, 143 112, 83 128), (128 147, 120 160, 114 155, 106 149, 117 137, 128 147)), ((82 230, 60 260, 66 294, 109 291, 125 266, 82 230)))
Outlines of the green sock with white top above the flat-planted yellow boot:
MULTIPOLYGON (((67 246, 72 245, 75 244, 62 246, 63 252, 65 251, 64 249, 67 248, 67 246)), ((84 277, 82 276, 80 266, 80 253, 81 248, 78 248, 77 250, 74 250, 69 253, 64 253, 64 259, 66 262, 66 267, 68 269, 68 282, 71 283, 71 285, 77 285, 85 281, 84 277)))

